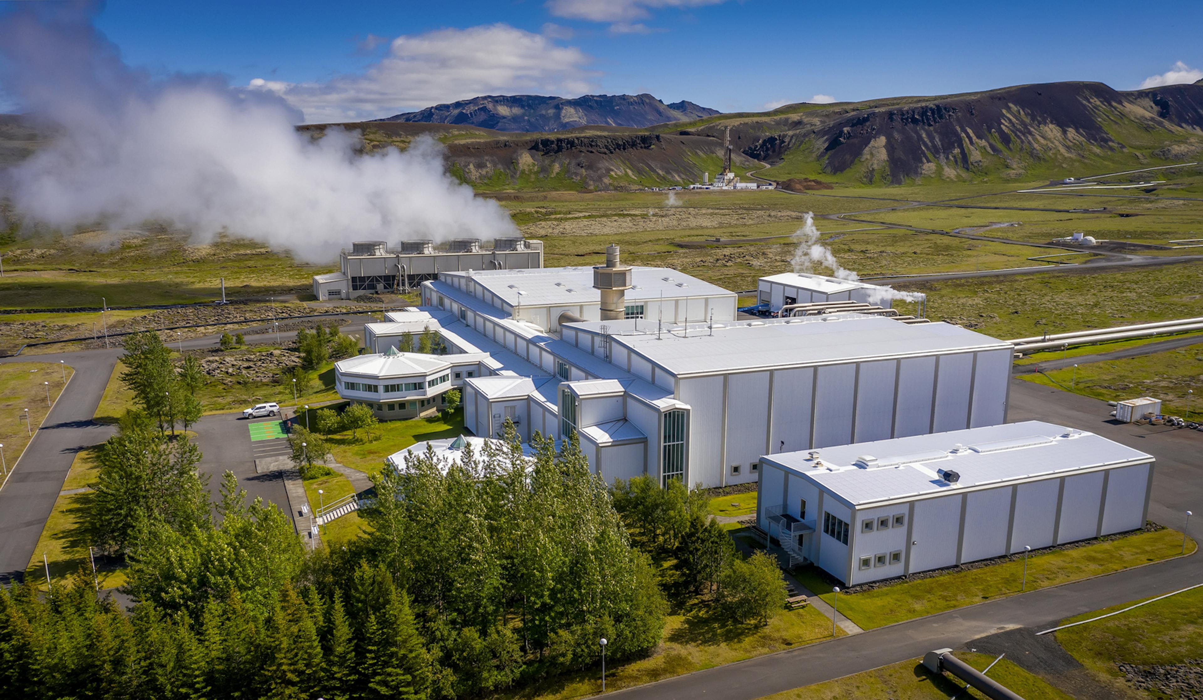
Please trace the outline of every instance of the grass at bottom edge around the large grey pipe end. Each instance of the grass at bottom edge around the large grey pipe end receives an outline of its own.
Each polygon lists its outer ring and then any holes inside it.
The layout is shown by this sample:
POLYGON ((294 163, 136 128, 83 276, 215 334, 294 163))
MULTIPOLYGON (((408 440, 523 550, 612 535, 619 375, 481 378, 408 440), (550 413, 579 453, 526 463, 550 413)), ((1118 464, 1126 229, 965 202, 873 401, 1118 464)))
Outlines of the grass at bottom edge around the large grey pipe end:
MULTIPOLYGON (((994 657, 959 652, 956 658, 977 670, 984 670, 994 657)), ((1071 696, 1049 686, 1039 676, 1029 674, 1011 659, 995 664, 989 677, 1014 690, 1026 700, 1068 700, 1071 696)), ((954 676, 937 676, 923 665, 921 659, 890 664, 802 688, 794 688, 760 700, 859 700, 889 698, 890 700, 928 700, 937 698, 984 698, 977 690, 962 690, 965 683, 954 676)))

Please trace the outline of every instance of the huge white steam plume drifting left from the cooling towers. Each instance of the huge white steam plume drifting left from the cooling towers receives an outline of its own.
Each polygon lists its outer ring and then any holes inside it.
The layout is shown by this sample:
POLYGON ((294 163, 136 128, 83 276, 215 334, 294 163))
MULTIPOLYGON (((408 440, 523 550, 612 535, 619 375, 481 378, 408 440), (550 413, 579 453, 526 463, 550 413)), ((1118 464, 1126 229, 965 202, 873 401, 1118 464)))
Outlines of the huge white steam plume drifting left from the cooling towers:
POLYGON ((352 239, 517 235, 506 212, 445 170, 442 147, 358 153, 355 132, 298 134, 278 96, 213 76, 154 79, 75 5, 0 19, 2 87, 53 142, 0 173, 0 191, 40 223, 170 221, 201 239, 229 231, 309 261, 352 239))

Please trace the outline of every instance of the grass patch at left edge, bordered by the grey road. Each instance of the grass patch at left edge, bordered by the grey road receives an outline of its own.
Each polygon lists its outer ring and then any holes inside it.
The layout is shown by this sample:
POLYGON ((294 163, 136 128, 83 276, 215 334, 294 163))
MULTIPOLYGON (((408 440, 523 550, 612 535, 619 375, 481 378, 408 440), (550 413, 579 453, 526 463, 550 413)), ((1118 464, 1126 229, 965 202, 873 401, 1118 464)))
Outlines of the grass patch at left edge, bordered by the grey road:
MULTIPOLYGON (((67 366, 66 378, 75 370, 67 366)), ((49 407, 46 402, 46 385, 49 382, 51 402, 59 398, 66 382, 64 369, 58 362, 13 362, 0 364, 0 444, 4 445, 4 463, 11 470, 31 438, 30 429, 37 432, 46 420, 49 407), (29 427, 22 417, 29 409, 29 427)), ((0 470, 0 482, 5 474, 0 470)))

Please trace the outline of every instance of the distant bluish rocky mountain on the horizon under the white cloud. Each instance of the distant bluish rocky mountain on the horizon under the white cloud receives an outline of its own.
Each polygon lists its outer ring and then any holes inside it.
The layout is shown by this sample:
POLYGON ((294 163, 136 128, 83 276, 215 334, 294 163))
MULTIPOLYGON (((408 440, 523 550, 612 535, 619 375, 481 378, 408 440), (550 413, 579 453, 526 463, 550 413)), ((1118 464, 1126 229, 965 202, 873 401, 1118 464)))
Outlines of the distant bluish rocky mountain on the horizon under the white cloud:
POLYGON ((666 121, 687 121, 718 114, 717 109, 682 100, 665 105, 652 95, 486 95, 420 112, 395 114, 378 121, 461 124, 497 131, 563 131, 577 126, 645 127, 666 121))

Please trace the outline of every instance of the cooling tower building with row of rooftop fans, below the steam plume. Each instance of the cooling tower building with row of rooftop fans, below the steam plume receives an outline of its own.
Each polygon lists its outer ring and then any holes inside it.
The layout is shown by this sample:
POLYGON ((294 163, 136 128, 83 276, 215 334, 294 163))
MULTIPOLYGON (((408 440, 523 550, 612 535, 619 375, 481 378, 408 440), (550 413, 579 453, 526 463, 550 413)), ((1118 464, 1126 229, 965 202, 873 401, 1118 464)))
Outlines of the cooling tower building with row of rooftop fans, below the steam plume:
POLYGON ((402 241, 390 248, 384 241, 358 241, 339 253, 338 262, 338 272, 314 275, 318 301, 409 290, 443 272, 539 268, 543 242, 496 238, 492 248, 485 248, 479 238, 456 238, 438 245, 402 241))

